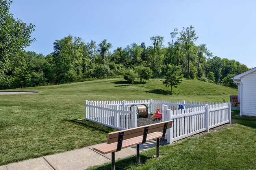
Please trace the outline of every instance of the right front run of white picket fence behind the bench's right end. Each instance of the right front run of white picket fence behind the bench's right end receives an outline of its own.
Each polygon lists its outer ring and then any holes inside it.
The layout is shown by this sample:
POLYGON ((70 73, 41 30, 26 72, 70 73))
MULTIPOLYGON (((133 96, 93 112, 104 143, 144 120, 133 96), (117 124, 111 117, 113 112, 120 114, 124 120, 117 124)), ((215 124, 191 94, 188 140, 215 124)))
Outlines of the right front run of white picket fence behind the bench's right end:
POLYGON ((170 110, 163 105, 163 121, 173 120, 173 126, 167 130, 167 143, 183 139, 185 137, 200 133, 209 132, 209 129, 222 124, 231 123, 231 105, 219 103, 205 106, 198 106, 184 110, 170 110))

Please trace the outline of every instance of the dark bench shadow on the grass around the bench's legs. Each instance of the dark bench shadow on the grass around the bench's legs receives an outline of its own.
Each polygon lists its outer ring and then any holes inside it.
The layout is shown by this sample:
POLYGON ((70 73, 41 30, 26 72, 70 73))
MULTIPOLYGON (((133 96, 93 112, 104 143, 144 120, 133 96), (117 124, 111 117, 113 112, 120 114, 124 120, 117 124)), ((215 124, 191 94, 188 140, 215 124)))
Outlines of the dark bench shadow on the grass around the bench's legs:
MULTIPOLYGON (((136 154, 136 153, 134 153, 136 154)), ((147 159, 150 159, 152 157, 147 157, 145 155, 139 155, 141 164, 145 163, 147 159)), ((131 166, 137 165, 136 163, 136 156, 128 157, 121 159, 119 161, 115 161, 115 169, 116 170, 123 170, 128 169, 131 166)), ((95 166, 93 168, 88 168, 87 170, 111 170, 111 163, 106 163, 104 165, 95 166)))

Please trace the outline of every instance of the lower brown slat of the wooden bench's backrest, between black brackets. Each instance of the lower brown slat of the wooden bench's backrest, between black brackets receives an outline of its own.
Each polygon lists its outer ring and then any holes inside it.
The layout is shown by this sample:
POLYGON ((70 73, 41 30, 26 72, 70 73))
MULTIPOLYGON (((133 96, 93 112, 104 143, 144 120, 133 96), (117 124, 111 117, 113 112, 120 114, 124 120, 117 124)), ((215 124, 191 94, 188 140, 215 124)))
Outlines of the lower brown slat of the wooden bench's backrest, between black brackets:
MULTIPOLYGON (((171 127, 172 127, 172 124, 167 125, 167 129, 169 129, 169 128, 171 128, 171 127)), ((161 131, 161 130, 163 130, 163 127, 154 128, 154 129, 150 128, 150 129, 148 130, 148 134, 154 133, 154 132, 158 132, 158 131, 161 131)), ((118 132, 120 132, 120 131, 118 131, 118 132)), ((137 137, 137 136, 141 136, 141 135, 143 135, 143 134, 144 134, 144 128, 143 128, 143 131, 141 131, 141 132, 131 133, 131 134, 129 134, 129 135, 125 135, 125 134, 124 134, 123 140, 131 139, 131 138, 134 138, 134 137, 137 137)), ((108 140, 107 140, 107 144, 115 143, 115 142, 117 142, 117 141, 118 141, 118 137, 111 138, 111 139, 108 139, 108 140)))

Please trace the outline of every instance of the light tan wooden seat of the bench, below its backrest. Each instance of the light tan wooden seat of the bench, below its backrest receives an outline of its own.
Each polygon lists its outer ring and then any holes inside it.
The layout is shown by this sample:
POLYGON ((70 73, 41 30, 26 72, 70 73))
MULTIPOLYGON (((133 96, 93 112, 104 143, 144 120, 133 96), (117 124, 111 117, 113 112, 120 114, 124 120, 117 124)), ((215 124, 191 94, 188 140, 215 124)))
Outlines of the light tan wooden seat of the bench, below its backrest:
MULTIPOLYGON (((162 137, 162 135, 163 135, 163 133, 161 133, 161 132, 150 133, 150 134, 147 135, 147 140, 146 141, 151 141, 151 140, 154 140, 154 139, 158 139, 158 138, 162 137)), ((143 136, 134 137, 134 138, 131 138, 131 139, 124 140, 122 142, 122 149, 130 147, 130 146, 134 146, 136 144, 141 144, 142 139, 143 139, 143 136)), ((117 150, 117 142, 111 143, 111 144, 102 144, 102 145, 99 145, 99 146, 95 146, 95 147, 93 147, 93 150, 96 150, 96 151, 98 151, 102 154, 108 154, 108 153, 111 153, 111 152, 115 152, 117 150)))

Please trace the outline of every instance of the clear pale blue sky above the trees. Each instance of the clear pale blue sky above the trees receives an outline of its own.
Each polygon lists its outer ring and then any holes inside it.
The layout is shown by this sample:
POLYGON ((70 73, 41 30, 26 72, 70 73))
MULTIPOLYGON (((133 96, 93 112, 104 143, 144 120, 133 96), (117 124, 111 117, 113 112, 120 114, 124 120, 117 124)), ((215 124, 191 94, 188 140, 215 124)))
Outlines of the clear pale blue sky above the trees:
POLYGON ((150 37, 171 41, 174 28, 193 26, 214 56, 256 67, 256 1, 254 0, 13 0, 15 18, 35 25, 36 41, 28 51, 47 55, 53 42, 67 35, 107 39, 125 48, 133 42, 151 46, 150 37))

